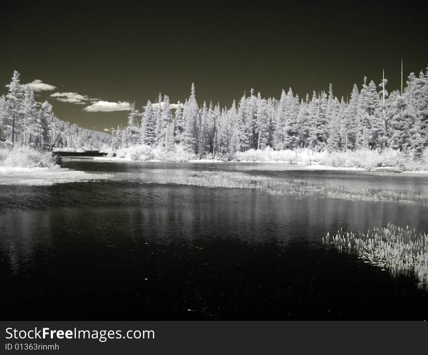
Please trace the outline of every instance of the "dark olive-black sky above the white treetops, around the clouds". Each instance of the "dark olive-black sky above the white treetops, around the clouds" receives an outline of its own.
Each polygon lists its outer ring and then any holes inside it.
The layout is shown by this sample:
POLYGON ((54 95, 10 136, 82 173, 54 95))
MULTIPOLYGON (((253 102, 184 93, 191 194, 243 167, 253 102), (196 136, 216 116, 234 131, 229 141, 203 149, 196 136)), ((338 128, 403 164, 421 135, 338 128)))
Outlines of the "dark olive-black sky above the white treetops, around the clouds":
POLYGON ((279 98, 282 88, 305 95, 331 82, 340 97, 364 75, 379 83, 382 68, 389 89, 398 89, 402 57, 405 76, 428 63, 427 10, 412 1, 400 7, 392 1, 152 2, 1 4, 0 83, 18 70, 23 83, 54 85, 38 99, 49 98, 62 119, 102 130, 125 123, 127 111, 86 112, 90 103, 49 95, 77 92, 141 107, 159 92, 184 101, 195 82, 200 103, 230 106, 251 88, 279 98))

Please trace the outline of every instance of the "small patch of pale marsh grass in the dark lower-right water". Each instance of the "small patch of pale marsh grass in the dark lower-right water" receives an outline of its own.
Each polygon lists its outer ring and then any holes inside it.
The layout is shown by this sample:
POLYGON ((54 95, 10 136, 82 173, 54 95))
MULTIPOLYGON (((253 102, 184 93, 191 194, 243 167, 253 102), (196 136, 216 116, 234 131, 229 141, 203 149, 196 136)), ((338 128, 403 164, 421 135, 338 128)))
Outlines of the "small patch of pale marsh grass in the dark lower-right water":
POLYGON ((367 233, 338 231, 322 238, 339 250, 355 253, 364 263, 389 270, 392 276, 414 275, 418 288, 428 290, 428 235, 393 224, 367 233))

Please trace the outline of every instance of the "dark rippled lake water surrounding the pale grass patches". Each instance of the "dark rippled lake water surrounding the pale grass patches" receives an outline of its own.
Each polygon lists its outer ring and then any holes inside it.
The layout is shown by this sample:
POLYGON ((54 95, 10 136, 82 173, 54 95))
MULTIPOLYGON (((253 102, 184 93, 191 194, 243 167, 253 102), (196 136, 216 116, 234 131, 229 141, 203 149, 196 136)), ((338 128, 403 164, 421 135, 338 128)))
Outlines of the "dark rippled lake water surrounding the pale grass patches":
POLYGON ((427 319, 428 295, 320 243, 392 222, 428 231, 428 207, 146 184, 234 170, 428 190, 425 177, 281 165, 66 161, 117 181, 0 186, 0 314, 11 320, 427 319))

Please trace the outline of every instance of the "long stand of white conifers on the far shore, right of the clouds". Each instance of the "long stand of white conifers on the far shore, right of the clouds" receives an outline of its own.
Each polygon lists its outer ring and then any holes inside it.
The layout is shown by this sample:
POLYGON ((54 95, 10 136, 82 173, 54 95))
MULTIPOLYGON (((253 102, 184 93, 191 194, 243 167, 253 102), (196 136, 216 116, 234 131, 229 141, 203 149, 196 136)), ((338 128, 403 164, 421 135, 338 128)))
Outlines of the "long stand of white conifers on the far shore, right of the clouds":
POLYGON ((347 151, 398 149, 418 159, 428 146, 428 71, 410 73, 403 89, 387 91, 388 80, 376 85, 364 77, 349 99, 327 92, 300 98, 292 89, 279 100, 250 90, 230 107, 196 102, 192 84, 184 104, 170 104, 167 95, 150 100, 140 114, 132 108, 127 125, 112 129, 112 148, 135 144, 172 149, 183 144, 200 157, 248 149, 309 148, 347 151), (140 117, 141 116, 141 119, 140 117))

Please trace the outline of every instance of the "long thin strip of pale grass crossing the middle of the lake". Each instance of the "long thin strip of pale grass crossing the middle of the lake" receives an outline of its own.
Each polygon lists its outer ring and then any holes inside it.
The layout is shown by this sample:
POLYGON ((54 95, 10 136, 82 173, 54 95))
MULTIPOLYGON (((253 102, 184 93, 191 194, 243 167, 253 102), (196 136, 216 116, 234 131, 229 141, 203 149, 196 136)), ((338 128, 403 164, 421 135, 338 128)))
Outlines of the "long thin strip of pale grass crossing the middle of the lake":
POLYGON ((198 171, 185 176, 163 176, 157 183, 193 185, 202 187, 224 187, 257 189, 272 195, 293 195, 296 197, 329 197, 362 201, 399 201, 428 206, 428 194, 418 190, 386 190, 349 186, 333 186, 301 179, 275 179, 266 176, 225 171, 198 171))

